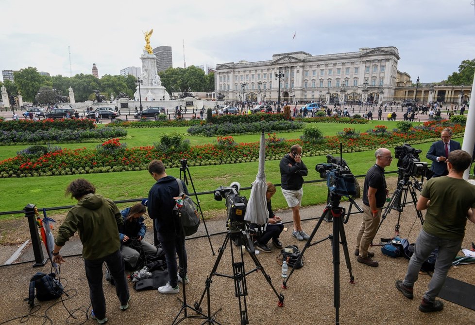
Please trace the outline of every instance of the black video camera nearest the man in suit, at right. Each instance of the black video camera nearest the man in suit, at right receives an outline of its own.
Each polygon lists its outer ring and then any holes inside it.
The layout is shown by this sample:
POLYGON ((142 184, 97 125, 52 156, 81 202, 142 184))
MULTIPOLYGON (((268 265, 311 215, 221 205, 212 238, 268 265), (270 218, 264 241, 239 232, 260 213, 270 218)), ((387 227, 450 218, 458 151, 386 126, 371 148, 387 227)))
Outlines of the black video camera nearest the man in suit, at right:
POLYGON ((430 179, 433 175, 432 171, 427 168, 427 162, 421 162, 419 154, 420 149, 415 149, 409 144, 400 145, 394 148, 394 155, 398 168, 402 169, 407 176, 418 177, 422 176, 430 179))

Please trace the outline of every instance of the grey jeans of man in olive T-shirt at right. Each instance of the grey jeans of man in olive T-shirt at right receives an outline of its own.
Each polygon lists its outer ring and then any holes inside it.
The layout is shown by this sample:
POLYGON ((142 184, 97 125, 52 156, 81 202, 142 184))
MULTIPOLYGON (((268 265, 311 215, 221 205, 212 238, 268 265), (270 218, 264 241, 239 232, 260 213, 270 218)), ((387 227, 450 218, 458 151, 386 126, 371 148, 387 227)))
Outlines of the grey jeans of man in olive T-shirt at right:
POLYGON ((429 257, 436 248, 439 248, 439 255, 437 256, 434 274, 430 279, 427 291, 424 293, 424 299, 430 303, 435 301, 435 297, 439 294, 447 277, 452 262, 458 251, 462 246, 462 239, 449 240, 429 235, 424 230, 421 230, 417 236, 416 244, 414 245, 414 254, 409 260, 406 277, 403 284, 406 287, 412 288, 417 281, 419 271, 424 261, 429 257))

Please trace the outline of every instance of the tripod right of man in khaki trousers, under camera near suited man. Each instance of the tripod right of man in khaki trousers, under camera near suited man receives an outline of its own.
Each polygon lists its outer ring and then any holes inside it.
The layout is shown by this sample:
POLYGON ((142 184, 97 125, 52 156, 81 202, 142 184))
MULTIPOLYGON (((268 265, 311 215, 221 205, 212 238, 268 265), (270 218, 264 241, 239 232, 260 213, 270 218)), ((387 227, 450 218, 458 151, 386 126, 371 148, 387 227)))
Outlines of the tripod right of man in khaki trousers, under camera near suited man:
MULTIPOLYGON (((417 181, 414 176, 410 176, 404 173, 403 169, 400 168, 398 170, 398 184, 396 190, 392 194, 390 202, 384 210, 384 213, 381 215, 381 221, 379 222, 379 226, 376 230, 376 233, 379 231, 379 228, 381 228, 381 225, 383 224, 383 221, 386 219, 388 214, 391 212, 392 209, 394 209, 399 212, 399 215, 397 217, 397 223, 394 228, 395 234, 399 235, 399 221, 401 220, 401 213, 403 212, 403 208, 407 205, 407 203, 414 203, 414 208, 416 208, 417 206, 417 195, 414 188, 418 189, 419 191, 422 191, 422 186, 419 181, 417 181), (414 183, 409 179, 410 177, 412 177, 414 183), (410 193, 412 201, 407 201, 407 193, 410 193), (404 200, 401 202, 402 199, 404 200)), ((423 225, 424 217, 422 216, 422 212, 417 210, 416 208, 416 214, 419 220, 421 220, 421 225, 423 225)))

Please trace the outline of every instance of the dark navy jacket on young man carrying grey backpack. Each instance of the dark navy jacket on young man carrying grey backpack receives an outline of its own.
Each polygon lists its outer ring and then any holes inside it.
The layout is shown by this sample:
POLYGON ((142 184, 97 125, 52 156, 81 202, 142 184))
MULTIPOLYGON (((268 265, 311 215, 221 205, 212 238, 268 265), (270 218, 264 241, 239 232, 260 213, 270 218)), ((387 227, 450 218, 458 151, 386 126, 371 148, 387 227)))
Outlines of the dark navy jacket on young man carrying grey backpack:
MULTIPOLYGON (((166 176, 153 184, 149 191, 147 211, 153 219, 158 232, 159 240, 173 240, 177 234, 181 234, 179 223, 175 222, 173 208, 175 197, 179 194, 178 184, 175 177, 166 176)), ((188 195, 187 185, 183 183, 183 190, 188 195)))

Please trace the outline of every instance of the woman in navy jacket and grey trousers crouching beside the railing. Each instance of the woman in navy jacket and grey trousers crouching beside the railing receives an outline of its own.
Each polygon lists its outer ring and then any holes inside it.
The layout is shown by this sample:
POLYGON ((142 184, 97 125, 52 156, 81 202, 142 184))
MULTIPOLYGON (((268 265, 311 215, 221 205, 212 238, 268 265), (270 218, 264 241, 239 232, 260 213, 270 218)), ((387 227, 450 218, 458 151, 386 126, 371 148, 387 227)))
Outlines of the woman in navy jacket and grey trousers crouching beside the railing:
MULTIPOLYGON (((146 202, 146 200, 144 201, 146 202)), ((143 240, 147 226, 142 216, 146 211, 147 208, 140 202, 134 204, 131 208, 120 211, 124 219, 123 226, 119 227, 120 253, 132 269, 136 269, 141 251, 143 251, 144 257, 157 253, 155 246, 143 240)))

